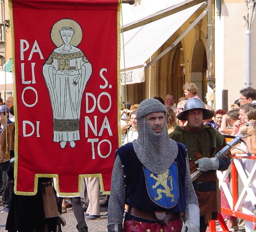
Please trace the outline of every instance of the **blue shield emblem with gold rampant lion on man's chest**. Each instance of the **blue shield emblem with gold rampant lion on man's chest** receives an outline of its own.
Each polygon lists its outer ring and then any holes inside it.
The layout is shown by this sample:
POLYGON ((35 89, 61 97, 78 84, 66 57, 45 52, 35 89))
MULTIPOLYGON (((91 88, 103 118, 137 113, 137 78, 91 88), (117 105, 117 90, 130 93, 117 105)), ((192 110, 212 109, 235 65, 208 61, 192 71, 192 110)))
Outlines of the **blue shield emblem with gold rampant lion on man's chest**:
POLYGON ((174 207, 179 199, 177 163, 172 163, 171 167, 162 174, 154 174, 146 167, 143 168, 150 199, 161 207, 174 207))

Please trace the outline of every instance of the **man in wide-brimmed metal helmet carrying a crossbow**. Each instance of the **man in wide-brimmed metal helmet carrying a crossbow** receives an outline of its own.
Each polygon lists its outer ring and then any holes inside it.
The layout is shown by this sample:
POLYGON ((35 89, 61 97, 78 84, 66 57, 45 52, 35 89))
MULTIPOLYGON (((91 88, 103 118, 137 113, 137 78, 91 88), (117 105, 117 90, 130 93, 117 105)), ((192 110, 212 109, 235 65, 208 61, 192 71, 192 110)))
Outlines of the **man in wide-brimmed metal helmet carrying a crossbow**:
MULTIPOLYGON (((217 220, 217 175, 216 170, 228 169, 231 154, 222 158, 214 155, 226 146, 226 141, 215 128, 204 125, 203 120, 214 116, 198 98, 190 98, 184 111, 177 115, 179 120, 187 120, 185 127, 177 126, 169 135, 176 142, 183 143, 188 149, 190 172, 196 169, 202 174, 193 181, 200 208, 200 232, 205 232, 208 222, 217 220)), ((220 205, 220 204, 219 204, 220 205)))

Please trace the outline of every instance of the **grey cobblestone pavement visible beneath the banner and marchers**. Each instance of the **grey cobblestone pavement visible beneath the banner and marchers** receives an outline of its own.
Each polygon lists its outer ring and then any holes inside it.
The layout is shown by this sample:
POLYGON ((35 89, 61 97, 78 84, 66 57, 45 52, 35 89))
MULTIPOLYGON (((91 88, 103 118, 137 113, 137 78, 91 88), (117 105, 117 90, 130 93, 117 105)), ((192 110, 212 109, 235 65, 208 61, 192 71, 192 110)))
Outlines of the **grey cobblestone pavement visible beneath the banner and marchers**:
MULTIPOLYGON (((0 210, 2 210, 2 204, 0 204, 0 210)), ((100 208, 100 219, 88 221, 86 223, 88 225, 89 232, 106 232, 107 231, 107 210, 108 208, 100 208)), ((77 232, 76 230, 76 219, 73 214, 73 210, 68 208, 68 212, 66 214, 62 214, 62 216, 66 219, 67 224, 64 227, 61 227, 63 232, 77 232)), ((4 232, 5 230, 5 221, 7 218, 7 213, 0 214, 0 232, 4 232)), ((216 226, 216 230, 220 229, 220 226, 216 226)))

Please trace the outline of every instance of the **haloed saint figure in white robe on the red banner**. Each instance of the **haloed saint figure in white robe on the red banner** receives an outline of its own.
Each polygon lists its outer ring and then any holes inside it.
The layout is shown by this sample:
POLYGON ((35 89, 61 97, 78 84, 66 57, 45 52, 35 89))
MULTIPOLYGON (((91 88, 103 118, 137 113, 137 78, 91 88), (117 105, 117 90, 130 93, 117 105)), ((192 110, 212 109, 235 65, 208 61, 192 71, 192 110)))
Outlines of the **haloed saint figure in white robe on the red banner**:
POLYGON ((53 141, 65 148, 80 140, 81 100, 91 74, 92 65, 76 47, 82 40, 80 25, 61 19, 52 27, 51 38, 57 46, 43 66, 43 75, 51 98, 53 141))

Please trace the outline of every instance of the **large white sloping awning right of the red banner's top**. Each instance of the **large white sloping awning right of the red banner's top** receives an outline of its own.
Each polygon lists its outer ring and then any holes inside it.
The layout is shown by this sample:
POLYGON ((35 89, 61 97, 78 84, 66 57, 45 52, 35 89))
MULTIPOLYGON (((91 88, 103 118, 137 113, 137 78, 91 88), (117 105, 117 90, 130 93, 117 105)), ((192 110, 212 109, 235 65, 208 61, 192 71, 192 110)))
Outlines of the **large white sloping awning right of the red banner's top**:
MULTIPOLYGON (((130 81, 126 84, 145 81, 145 77, 142 76, 145 75, 144 71, 137 72, 141 74, 141 76, 137 76, 135 75, 135 69, 143 68, 144 63, 149 57, 152 56, 202 4, 203 3, 197 4, 152 23, 124 32, 124 46, 123 33, 121 33, 121 74, 124 76, 124 58, 125 70, 126 72, 130 70, 130 76, 126 74, 126 80, 130 81)), ((122 81, 121 84, 124 84, 124 82, 122 81)))

